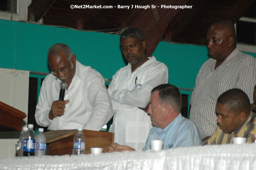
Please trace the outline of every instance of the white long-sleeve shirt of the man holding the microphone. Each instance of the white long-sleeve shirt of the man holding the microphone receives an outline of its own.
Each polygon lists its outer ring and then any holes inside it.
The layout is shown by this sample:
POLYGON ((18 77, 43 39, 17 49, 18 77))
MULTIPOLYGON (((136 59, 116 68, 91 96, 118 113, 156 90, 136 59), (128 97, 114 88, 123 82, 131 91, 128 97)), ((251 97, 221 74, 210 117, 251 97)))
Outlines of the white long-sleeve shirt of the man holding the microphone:
POLYGON ((90 66, 76 61, 76 72, 65 93, 64 100, 69 99, 63 116, 49 119, 53 101, 58 100, 60 79, 54 75, 46 76, 42 83, 36 122, 40 126, 49 126, 49 130, 77 129, 100 130, 112 117, 111 100, 100 73, 90 66))

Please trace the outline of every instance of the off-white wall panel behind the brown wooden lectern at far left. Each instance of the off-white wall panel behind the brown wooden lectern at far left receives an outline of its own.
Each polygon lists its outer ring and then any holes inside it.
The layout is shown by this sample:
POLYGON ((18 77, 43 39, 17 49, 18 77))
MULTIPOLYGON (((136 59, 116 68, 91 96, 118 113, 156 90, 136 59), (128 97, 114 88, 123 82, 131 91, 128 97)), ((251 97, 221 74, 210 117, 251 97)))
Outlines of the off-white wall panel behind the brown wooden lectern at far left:
MULTIPOLYGON (((0 101, 28 113, 29 71, 0 68, 0 101)), ((23 126, 27 125, 27 117, 23 126)), ((20 132, 0 132, 0 157, 14 157, 20 132)))

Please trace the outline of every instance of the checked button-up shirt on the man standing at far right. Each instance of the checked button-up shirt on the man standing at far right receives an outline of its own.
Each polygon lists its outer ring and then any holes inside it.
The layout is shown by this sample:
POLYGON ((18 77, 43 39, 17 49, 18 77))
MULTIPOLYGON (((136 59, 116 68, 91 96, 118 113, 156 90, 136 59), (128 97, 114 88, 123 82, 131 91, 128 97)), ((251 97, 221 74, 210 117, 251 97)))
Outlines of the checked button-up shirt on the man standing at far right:
POLYGON ((190 119, 202 138, 211 136, 217 128, 216 102, 231 88, 240 88, 253 103, 256 84, 256 59, 241 53, 237 48, 216 69, 216 60, 209 59, 201 66, 191 96, 190 119))

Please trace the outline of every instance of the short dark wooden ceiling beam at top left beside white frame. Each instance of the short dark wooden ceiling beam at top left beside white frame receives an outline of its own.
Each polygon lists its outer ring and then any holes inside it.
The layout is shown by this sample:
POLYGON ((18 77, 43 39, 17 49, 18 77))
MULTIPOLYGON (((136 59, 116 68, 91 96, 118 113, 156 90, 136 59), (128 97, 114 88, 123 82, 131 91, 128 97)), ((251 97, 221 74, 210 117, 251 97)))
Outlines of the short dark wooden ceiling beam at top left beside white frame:
POLYGON ((56 0, 33 0, 28 7, 29 20, 38 21, 49 10, 56 0))

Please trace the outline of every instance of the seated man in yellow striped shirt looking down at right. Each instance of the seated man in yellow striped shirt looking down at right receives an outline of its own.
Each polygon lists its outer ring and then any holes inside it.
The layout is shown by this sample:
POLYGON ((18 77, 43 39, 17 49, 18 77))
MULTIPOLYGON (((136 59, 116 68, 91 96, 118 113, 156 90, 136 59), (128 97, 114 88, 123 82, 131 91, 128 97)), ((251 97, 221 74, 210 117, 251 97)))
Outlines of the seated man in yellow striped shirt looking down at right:
POLYGON ((245 137, 248 143, 251 142, 251 134, 256 134, 256 113, 251 112, 246 93, 238 88, 218 97, 216 115, 218 128, 203 145, 232 144, 233 137, 245 137))

